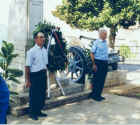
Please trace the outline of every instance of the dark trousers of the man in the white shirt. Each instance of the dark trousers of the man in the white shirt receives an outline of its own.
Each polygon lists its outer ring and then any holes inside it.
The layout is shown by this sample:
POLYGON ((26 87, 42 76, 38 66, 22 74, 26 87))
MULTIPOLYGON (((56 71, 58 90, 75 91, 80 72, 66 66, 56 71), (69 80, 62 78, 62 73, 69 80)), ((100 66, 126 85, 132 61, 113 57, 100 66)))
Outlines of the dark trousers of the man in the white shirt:
POLYGON ((29 92, 29 106, 30 114, 37 115, 42 110, 46 99, 46 71, 30 74, 30 92, 29 92))

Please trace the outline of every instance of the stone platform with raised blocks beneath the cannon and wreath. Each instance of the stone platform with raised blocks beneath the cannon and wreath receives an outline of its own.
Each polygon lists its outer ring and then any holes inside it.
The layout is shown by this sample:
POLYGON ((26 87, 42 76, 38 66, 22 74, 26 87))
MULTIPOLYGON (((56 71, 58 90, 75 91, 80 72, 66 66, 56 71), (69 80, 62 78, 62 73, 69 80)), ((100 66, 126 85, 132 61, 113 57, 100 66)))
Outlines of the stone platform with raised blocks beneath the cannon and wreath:
MULTIPOLYGON (((84 86, 81 84, 71 84, 69 85, 69 87, 64 88, 66 96, 60 96, 61 95, 60 91, 54 92, 54 96, 52 98, 50 98, 49 100, 46 99, 46 104, 44 109, 55 108, 57 106, 86 99, 90 91, 84 92, 83 89, 84 86)), ((28 95, 27 96, 23 95, 22 97, 18 97, 16 99, 18 105, 11 108, 11 114, 14 116, 22 116, 28 114, 29 112, 29 105, 27 103, 28 99, 29 99, 28 95), (22 105, 20 105, 20 103, 22 105)))

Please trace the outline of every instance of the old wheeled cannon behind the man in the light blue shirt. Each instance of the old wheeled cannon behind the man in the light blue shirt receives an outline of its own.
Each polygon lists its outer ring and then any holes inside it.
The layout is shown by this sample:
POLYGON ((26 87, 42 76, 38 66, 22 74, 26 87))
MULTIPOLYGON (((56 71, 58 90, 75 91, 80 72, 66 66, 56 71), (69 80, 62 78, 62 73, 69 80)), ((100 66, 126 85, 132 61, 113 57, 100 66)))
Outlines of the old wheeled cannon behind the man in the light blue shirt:
MULTIPOLYGON (((87 48, 82 48, 80 46, 70 46, 67 53, 68 65, 64 71, 66 77, 76 83, 82 82, 86 74, 93 74, 90 48, 96 39, 80 36, 80 40, 81 39, 89 40, 89 46, 87 48)), ((109 51, 108 56, 108 71, 117 70, 118 63, 124 61, 124 58, 122 58, 119 55, 119 52, 116 52, 115 50, 109 51)))

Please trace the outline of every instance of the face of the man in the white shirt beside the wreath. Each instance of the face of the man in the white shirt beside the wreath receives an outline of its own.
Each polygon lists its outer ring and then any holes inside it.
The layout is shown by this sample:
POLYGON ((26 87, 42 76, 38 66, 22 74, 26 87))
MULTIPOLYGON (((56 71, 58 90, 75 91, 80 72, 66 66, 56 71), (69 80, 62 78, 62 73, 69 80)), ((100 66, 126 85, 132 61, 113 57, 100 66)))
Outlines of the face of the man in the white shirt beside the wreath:
POLYGON ((42 47, 45 43, 45 37, 44 34, 42 32, 39 32, 37 34, 37 37, 35 38, 35 42, 38 46, 42 47))

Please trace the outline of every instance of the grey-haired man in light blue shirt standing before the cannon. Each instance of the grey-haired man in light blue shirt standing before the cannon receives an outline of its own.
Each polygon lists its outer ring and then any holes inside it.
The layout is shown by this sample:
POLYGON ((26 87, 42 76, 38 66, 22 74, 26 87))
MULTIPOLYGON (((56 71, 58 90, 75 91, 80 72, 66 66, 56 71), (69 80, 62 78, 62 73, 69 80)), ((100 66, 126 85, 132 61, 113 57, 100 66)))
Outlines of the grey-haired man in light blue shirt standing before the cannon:
POLYGON ((107 31, 99 30, 99 39, 97 39, 91 49, 91 59, 93 63, 93 90, 90 97, 96 101, 102 101, 105 98, 101 96, 108 71, 108 45, 107 31))

